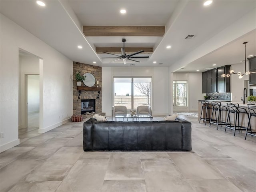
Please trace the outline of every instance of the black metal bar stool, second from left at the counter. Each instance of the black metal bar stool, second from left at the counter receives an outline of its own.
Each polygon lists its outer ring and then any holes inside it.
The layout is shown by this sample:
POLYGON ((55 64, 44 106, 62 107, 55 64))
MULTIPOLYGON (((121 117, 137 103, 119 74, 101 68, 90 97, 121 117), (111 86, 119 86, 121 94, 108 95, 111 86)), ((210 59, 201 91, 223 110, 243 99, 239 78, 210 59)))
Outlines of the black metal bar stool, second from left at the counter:
MULTIPOLYGON (((217 125, 217 130, 219 128, 219 125, 220 126, 222 126, 222 125, 226 126, 226 122, 222 121, 222 111, 228 112, 228 108, 226 106, 222 106, 221 102, 212 101, 212 115, 211 115, 211 120, 210 120, 209 127, 211 127, 212 123, 217 125), (218 117, 216 115, 216 111, 218 112, 218 117), (215 114, 216 119, 212 119, 213 112, 215 114)), ((231 126, 230 121, 229 121, 229 125, 231 126)))

